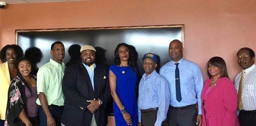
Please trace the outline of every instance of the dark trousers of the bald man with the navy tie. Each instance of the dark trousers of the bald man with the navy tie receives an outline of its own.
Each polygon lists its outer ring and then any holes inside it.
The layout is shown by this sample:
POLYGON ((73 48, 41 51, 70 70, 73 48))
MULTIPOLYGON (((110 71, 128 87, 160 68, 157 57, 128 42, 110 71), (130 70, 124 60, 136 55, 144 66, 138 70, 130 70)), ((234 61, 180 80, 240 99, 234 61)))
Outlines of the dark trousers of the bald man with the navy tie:
POLYGON ((169 106, 167 112, 168 126, 196 126, 197 115, 196 104, 180 110, 169 106))

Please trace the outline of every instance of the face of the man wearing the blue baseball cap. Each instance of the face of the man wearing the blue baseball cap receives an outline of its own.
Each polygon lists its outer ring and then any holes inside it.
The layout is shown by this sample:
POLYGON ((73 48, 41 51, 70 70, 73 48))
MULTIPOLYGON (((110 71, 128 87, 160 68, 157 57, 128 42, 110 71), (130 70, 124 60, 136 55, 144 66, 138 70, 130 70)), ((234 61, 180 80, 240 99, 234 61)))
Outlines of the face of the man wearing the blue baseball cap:
POLYGON ((145 58, 142 65, 146 76, 150 75, 157 68, 157 64, 151 58, 145 58))

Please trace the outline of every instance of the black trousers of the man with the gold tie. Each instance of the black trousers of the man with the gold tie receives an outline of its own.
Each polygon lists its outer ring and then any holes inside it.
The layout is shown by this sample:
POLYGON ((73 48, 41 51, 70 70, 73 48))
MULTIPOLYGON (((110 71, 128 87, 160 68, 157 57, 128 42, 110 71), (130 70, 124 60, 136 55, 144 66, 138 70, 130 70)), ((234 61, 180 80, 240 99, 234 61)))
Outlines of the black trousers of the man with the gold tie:
POLYGON ((256 126, 256 110, 241 110, 238 114, 238 121, 240 123, 240 126, 256 126))

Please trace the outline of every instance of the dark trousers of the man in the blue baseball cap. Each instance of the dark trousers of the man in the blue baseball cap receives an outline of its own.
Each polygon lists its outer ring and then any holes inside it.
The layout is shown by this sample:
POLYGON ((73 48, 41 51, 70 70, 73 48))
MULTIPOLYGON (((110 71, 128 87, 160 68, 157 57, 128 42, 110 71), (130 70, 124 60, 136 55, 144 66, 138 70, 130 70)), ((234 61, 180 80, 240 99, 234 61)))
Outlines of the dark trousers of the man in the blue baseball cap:
MULTIPOLYGON (((151 108, 147 109, 145 112, 141 112, 141 125, 142 126, 154 126, 155 121, 157 121, 157 111, 158 109, 151 108)), ((167 119, 162 122, 161 126, 167 126, 167 119)))

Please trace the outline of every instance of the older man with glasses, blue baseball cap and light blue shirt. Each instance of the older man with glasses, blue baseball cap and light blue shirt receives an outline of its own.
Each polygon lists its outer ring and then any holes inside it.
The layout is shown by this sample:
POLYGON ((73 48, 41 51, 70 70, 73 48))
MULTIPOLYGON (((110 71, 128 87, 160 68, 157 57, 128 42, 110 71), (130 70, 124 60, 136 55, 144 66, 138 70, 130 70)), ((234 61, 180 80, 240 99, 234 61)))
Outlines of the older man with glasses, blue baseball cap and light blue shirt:
POLYGON ((155 70, 155 54, 147 53, 142 60, 145 73, 139 84, 139 126, 167 126, 166 114, 170 102, 168 83, 155 70))

